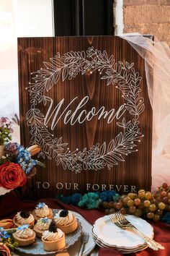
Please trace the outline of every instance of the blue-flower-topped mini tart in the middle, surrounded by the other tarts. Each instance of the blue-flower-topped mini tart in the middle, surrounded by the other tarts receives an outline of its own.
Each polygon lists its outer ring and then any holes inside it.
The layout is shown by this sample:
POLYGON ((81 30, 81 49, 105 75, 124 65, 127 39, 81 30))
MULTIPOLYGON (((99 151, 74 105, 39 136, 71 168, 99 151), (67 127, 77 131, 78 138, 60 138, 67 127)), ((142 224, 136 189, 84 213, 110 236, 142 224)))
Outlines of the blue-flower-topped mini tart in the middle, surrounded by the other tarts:
POLYGON ((51 219, 47 218, 47 217, 40 218, 39 220, 37 220, 37 223, 34 226, 34 231, 35 231, 36 235, 41 238, 42 233, 45 230, 48 230, 50 223, 51 223, 51 219))

